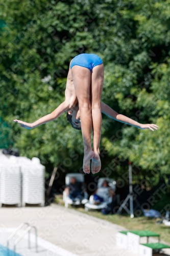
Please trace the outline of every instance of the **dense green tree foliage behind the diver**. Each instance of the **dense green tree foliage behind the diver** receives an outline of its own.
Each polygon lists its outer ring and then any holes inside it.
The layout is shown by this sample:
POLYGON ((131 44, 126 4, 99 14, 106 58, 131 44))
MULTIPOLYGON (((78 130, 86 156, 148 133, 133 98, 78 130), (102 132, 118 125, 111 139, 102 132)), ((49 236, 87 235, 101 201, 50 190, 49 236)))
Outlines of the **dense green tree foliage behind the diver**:
POLYGON ((170 1, 0 3, 0 115, 11 126, 11 145, 47 166, 81 168, 82 135, 65 116, 31 131, 13 119, 33 122, 56 109, 64 99, 69 61, 93 52, 105 65, 102 100, 118 113, 159 126, 157 132, 143 131, 103 117, 103 174, 121 176, 126 159, 138 179, 154 184, 168 174, 170 1))

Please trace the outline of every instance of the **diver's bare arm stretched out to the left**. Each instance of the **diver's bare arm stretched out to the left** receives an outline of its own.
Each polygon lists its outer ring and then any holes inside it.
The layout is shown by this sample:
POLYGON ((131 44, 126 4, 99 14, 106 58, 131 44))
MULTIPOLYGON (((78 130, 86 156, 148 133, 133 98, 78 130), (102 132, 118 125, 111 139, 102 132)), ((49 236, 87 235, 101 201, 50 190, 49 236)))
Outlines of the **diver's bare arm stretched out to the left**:
POLYGON ((68 110, 69 110, 69 104, 67 101, 64 101, 51 114, 43 116, 33 123, 27 123, 27 122, 23 122, 23 121, 17 120, 17 119, 15 119, 14 122, 19 123, 21 127, 24 127, 26 129, 30 130, 30 129, 33 129, 43 123, 47 123, 47 122, 57 119, 59 116, 61 116, 64 112, 66 112, 68 110))

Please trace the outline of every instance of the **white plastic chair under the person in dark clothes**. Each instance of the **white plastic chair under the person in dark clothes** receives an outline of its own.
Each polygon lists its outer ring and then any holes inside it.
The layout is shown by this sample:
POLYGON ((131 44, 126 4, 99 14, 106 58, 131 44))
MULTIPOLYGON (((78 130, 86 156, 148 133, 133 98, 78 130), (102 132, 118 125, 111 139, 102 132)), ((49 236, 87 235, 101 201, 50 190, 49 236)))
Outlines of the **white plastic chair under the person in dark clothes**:
MULTIPOLYGON (((76 181, 78 181, 78 182, 84 182, 84 175, 83 174, 71 173, 71 174, 66 174, 66 176, 65 176, 65 184, 66 185, 70 184, 72 177, 76 178, 76 181)), ((83 190, 83 186, 82 186, 82 190, 83 190)), ((66 191, 63 191, 63 201, 65 203, 65 207, 67 208, 69 204, 71 204, 71 205, 80 205, 80 204, 87 203, 88 202, 88 194, 87 194, 86 191, 84 191, 83 193, 84 193, 84 198, 81 202, 80 202, 80 200, 76 200, 75 202, 73 202, 66 195, 66 191)))

